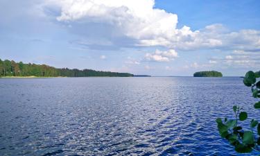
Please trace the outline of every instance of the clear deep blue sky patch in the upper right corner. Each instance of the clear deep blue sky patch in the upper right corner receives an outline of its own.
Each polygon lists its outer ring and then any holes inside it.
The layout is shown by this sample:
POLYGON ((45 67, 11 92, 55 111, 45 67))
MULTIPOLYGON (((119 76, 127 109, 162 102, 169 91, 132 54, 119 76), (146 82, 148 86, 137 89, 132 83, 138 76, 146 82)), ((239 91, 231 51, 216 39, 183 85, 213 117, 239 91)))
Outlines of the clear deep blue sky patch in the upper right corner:
POLYGON ((260 26, 260 2, 255 0, 161 0, 156 1, 155 7, 176 13, 179 26, 191 26, 194 30, 210 24, 223 24, 233 31, 260 26))

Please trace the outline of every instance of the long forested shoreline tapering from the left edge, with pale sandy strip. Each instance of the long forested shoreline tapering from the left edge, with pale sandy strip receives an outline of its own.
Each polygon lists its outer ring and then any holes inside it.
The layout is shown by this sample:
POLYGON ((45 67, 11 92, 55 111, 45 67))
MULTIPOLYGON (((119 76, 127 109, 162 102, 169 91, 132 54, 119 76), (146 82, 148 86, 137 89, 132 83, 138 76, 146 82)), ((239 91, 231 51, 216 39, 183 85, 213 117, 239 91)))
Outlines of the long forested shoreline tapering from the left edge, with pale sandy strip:
POLYGON ((13 60, 0 59, 0 77, 132 77, 131 73, 117 73, 110 71, 95 71, 92 69, 58 69, 46 64, 24 64, 13 60))

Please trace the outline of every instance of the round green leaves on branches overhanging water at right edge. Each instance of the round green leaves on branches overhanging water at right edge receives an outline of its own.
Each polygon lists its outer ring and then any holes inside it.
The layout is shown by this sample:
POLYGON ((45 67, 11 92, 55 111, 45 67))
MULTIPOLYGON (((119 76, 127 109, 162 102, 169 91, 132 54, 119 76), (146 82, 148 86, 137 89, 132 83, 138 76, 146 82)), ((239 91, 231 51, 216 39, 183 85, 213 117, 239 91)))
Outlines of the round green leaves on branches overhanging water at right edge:
MULTIPOLYGON (((251 87, 252 96, 254 98, 260 98, 260 81, 257 82, 257 78, 259 77, 260 71, 255 73, 248 71, 243 78, 245 86, 251 87)), ((254 108, 260 109, 260 101, 254 104, 254 108)), ((243 110, 242 107, 234 105, 233 111, 235 119, 216 119, 218 132, 221 137, 227 139, 227 141, 234 146, 237 153, 251 153, 252 150, 260 152, 260 123, 252 119, 248 130, 239 126, 239 121, 248 119, 248 113, 242 112, 241 110, 243 110)))

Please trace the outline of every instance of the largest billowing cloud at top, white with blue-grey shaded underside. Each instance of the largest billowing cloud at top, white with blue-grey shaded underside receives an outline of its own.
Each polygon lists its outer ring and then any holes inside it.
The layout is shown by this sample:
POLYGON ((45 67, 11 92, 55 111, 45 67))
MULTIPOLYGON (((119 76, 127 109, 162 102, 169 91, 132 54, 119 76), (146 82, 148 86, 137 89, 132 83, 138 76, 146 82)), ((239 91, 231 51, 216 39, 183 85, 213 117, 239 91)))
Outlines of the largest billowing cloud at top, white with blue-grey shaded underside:
POLYGON ((154 8, 155 0, 45 0, 43 6, 59 8, 57 21, 73 33, 119 46, 168 47, 198 33, 188 26, 177 28, 177 15, 154 8), (128 41, 121 43, 122 38, 128 41))

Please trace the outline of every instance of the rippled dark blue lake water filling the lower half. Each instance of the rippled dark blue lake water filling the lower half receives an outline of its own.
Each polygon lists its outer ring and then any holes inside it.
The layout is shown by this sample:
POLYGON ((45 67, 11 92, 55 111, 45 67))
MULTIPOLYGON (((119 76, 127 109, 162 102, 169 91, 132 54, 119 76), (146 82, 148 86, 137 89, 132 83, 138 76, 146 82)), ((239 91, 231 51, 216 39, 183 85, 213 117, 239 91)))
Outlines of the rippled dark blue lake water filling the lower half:
POLYGON ((236 155, 215 119, 254 101, 241 78, 2 78, 0 155, 236 155))

